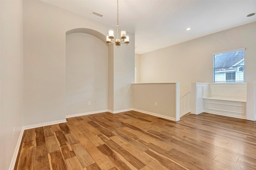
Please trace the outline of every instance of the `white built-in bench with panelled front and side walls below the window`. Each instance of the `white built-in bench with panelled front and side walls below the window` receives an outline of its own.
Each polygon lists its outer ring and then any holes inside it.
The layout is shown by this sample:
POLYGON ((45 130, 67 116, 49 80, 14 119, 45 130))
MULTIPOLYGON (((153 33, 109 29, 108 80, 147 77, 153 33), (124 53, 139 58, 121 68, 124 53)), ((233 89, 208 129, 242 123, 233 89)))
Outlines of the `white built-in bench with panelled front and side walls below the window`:
POLYGON ((195 83, 192 86, 196 114, 205 112, 246 119, 246 83, 195 83))

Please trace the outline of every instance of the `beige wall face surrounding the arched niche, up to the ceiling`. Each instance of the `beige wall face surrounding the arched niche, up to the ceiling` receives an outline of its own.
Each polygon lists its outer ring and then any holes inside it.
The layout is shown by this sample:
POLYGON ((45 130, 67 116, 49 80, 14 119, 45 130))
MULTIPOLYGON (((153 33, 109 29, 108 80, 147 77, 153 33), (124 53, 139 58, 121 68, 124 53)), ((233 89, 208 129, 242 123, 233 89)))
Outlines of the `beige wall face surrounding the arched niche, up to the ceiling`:
MULTIPOLYGON (((65 119, 65 37, 66 31, 76 28, 89 28, 102 35, 115 29, 44 2, 24 1, 25 126, 65 119)), ((113 70, 114 76, 118 75, 113 82, 114 110, 132 106, 128 84, 134 77, 134 71, 130 73, 134 70, 134 35, 128 34, 131 43, 126 49, 113 49, 114 59, 120 56, 124 68, 113 70)))

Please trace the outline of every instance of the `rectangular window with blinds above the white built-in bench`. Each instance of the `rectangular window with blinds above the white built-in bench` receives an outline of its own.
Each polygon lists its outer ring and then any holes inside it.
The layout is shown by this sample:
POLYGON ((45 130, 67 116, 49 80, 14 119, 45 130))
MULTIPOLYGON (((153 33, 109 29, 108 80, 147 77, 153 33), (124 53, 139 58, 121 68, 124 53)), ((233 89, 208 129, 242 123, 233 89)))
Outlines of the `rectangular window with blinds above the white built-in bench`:
POLYGON ((244 82, 244 50, 213 54, 213 82, 244 82))

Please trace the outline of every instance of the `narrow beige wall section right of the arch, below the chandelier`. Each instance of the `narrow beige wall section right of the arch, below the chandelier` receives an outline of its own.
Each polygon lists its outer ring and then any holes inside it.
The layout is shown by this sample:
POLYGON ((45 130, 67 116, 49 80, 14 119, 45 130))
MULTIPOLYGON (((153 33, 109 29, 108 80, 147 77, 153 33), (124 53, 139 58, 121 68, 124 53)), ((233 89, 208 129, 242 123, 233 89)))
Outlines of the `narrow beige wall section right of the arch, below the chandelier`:
MULTIPOLYGON (((134 36, 130 36, 134 39, 134 36)), ((114 113, 132 109, 134 83, 134 41, 114 47, 114 113)))

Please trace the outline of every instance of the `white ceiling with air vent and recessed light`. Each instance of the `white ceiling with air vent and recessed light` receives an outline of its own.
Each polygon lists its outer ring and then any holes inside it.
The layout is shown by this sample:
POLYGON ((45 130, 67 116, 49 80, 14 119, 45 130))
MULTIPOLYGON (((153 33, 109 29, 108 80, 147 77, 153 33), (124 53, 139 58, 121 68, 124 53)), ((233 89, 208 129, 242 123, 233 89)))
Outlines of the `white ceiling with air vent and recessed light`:
MULTIPOLYGON (((116 27, 116 0, 42 1, 116 27)), ((144 54, 254 22, 251 13, 256 0, 119 0, 119 28, 135 34, 135 53, 144 54)))

